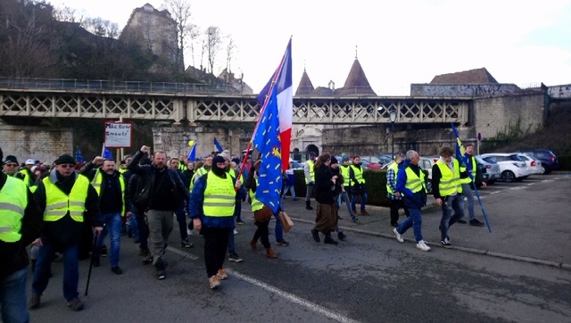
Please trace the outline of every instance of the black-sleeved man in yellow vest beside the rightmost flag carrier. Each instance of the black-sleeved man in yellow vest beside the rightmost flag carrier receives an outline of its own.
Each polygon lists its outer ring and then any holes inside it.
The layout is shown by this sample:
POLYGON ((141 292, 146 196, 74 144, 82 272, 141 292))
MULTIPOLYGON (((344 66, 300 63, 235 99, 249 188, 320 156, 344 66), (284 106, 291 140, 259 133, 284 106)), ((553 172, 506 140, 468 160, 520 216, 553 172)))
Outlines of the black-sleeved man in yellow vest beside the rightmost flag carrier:
POLYGON ((443 217, 440 219, 440 235, 444 248, 452 244, 448 229, 458 219, 464 216, 464 198, 460 184, 460 166, 458 160, 452 157, 451 147, 440 149, 440 159, 432 167, 432 187, 436 205, 442 206, 443 217), (452 210, 454 215, 452 216, 452 210))

